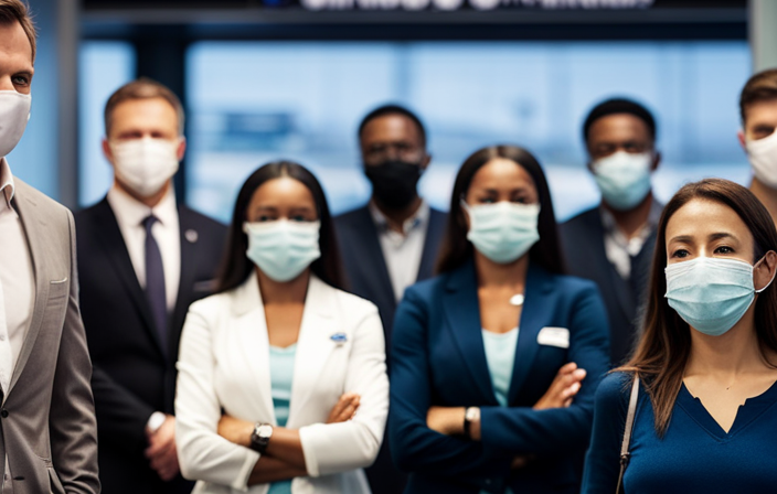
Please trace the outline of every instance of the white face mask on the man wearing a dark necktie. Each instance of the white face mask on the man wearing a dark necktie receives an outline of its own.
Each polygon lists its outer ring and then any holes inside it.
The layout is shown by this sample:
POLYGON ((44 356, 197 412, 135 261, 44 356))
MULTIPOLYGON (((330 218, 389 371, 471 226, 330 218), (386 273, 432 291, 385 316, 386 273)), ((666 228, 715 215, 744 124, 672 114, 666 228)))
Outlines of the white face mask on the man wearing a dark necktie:
POLYGON ((156 194, 178 171, 179 144, 148 137, 110 144, 116 176, 141 197, 156 194))

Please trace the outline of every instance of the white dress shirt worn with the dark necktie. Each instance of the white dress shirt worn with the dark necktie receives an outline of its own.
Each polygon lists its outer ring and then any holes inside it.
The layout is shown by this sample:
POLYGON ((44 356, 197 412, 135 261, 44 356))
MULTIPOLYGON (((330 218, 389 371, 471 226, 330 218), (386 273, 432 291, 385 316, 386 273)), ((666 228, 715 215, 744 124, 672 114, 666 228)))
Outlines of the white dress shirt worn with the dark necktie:
POLYGON ((146 289, 146 227, 143 219, 153 214, 159 221, 151 227, 164 266, 164 293, 168 310, 175 308, 181 278, 181 228, 175 195, 170 191, 153 208, 135 200, 114 184, 108 191, 108 204, 116 215, 124 243, 140 287, 146 289))

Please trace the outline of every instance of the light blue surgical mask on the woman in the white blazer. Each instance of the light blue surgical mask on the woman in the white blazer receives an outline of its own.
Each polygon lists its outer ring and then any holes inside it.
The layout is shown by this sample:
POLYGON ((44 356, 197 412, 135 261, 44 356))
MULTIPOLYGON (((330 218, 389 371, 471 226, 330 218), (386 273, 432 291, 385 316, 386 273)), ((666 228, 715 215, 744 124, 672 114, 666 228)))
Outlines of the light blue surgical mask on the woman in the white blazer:
POLYGON ((246 255, 270 279, 290 281, 321 257, 320 229, 321 222, 246 222, 243 224, 248 236, 246 255))

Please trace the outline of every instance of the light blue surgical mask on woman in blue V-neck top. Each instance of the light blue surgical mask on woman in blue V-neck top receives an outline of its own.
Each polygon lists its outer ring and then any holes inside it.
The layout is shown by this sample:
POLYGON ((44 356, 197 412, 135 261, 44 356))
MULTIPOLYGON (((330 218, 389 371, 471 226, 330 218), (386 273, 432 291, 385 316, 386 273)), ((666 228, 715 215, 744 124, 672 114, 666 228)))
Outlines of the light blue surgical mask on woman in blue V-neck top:
POLYGON ((720 336, 745 315, 755 294, 771 284, 756 290, 753 271, 745 261, 715 257, 669 265, 666 298, 694 330, 720 336))

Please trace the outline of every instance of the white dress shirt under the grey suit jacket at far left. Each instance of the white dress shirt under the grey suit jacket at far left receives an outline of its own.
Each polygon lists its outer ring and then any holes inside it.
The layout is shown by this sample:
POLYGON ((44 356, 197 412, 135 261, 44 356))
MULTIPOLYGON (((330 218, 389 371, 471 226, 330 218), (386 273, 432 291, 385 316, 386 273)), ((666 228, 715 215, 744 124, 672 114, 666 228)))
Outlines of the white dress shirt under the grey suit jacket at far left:
POLYGON ((11 205, 13 175, 4 158, 0 191, 0 386, 8 393, 32 318, 35 281, 24 228, 11 205))

